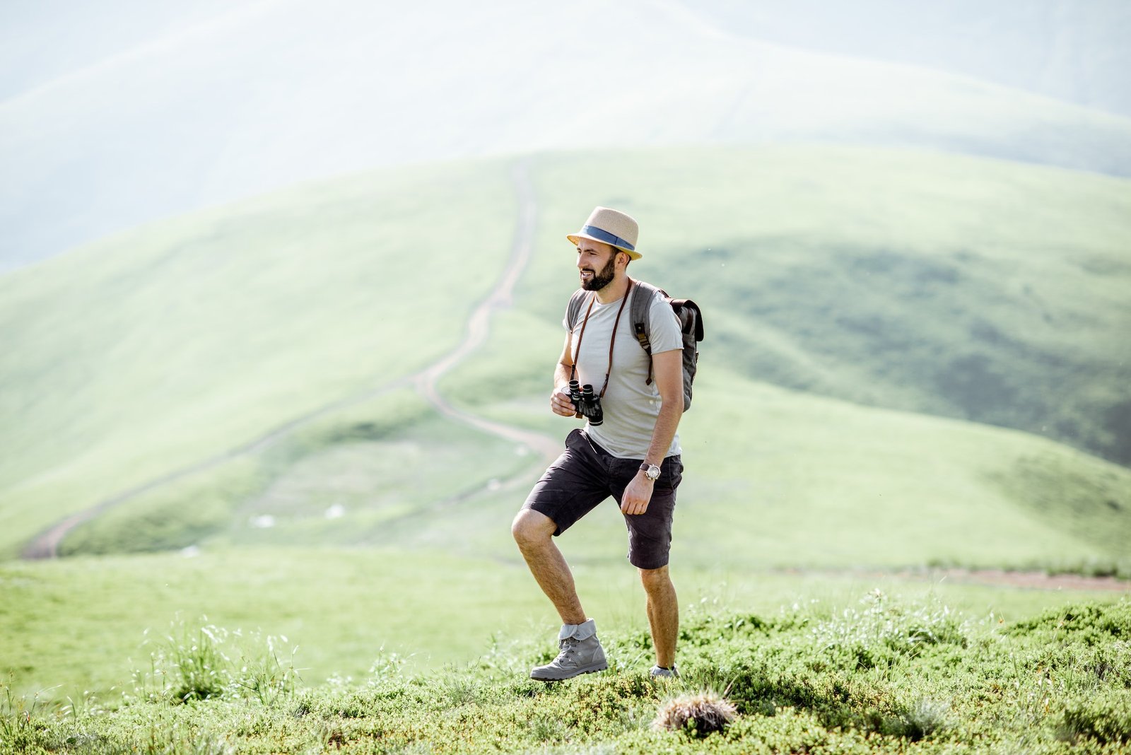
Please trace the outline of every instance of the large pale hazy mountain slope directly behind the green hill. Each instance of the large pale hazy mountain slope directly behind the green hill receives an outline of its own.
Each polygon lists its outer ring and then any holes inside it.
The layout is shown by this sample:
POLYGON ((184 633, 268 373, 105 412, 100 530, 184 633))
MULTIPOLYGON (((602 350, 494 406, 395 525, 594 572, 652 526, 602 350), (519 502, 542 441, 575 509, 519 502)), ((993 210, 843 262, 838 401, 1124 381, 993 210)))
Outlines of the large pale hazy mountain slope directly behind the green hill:
POLYGON ((1131 173, 1128 119, 765 44, 662 0, 292 0, 187 18, 10 85, 0 269, 296 180, 534 149, 784 138, 1131 173), (602 33, 562 33, 586 28, 602 33))

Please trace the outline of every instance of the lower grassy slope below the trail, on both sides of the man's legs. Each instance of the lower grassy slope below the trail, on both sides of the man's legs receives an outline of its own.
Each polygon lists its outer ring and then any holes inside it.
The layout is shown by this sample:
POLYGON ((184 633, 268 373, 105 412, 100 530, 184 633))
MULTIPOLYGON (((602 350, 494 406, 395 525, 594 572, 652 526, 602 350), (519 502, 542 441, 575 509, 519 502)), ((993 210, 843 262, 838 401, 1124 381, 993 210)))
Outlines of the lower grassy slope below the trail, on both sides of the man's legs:
MULTIPOLYGON (((78 528, 62 550, 318 543, 513 557, 508 523, 542 462, 423 407, 380 425, 374 417, 389 401, 139 495, 78 528), (360 427, 380 429, 355 434, 360 427)), ((564 435, 571 423, 546 423, 542 408, 538 398, 476 410, 564 435)), ((722 375, 703 379, 702 402, 683 427, 692 471, 676 520, 681 564, 1090 563, 1131 574, 1131 517, 1122 509, 1131 472, 1056 443, 722 375)), ((623 523, 612 506, 563 543, 575 563, 623 562, 623 523)))

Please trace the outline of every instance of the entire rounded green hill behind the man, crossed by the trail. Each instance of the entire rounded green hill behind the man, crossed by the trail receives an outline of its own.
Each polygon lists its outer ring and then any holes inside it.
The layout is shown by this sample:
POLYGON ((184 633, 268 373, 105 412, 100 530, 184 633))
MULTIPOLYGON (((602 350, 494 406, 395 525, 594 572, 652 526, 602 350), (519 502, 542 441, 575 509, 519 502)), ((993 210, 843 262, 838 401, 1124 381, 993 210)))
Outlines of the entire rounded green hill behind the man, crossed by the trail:
MULTIPOLYGON (((466 532, 483 539, 465 549, 498 547, 518 496, 499 486, 537 465, 452 429, 397 381, 450 350, 500 277, 507 170, 299 186, 0 278, 14 418, 0 427, 0 545, 14 553, 64 514, 213 460, 64 550, 466 532), (474 505, 435 515, 444 501, 474 505), (345 515, 328 520, 336 505, 345 515), (264 515, 276 526, 253 527, 264 515)), ((1043 429, 1119 458, 1125 181, 808 147, 555 155, 530 171, 538 236, 516 307, 442 389, 563 435, 541 413, 575 286, 562 229, 594 203, 636 214, 646 257, 632 272, 693 296, 708 321, 684 420, 684 558, 717 557, 716 519, 727 557, 759 565, 1128 556, 1125 468, 906 414, 1043 429)), ((579 555, 619 559, 598 545, 618 528, 597 527, 579 555)))

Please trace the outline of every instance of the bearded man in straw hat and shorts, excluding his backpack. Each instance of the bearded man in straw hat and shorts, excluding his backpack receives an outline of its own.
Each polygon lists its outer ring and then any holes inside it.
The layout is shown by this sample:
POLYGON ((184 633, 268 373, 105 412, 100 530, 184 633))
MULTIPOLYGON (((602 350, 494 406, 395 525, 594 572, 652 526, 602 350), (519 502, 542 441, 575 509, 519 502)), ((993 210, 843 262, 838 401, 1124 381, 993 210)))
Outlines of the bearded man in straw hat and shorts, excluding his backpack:
POLYGON ((668 548, 675 488, 683 465, 676 426, 683 415, 683 340, 672 307, 655 296, 649 307, 651 357, 632 333, 624 304, 651 295, 629 278, 636 251, 637 222, 596 208, 585 226, 567 238, 577 248, 582 301, 554 368, 551 410, 577 416, 569 381, 576 374, 599 397, 603 422, 587 417, 573 429, 566 451, 534 486, 511 531, 530 572, 562 619, 560 653, 530 672, 554 682, 607 668, 596 623, 581 608, 573 576, 552 537, 561 535, 598 503, 612 496, 629 533, 629 562, 639 570, 647 596, 648 624, 656 650, 653 676, 675 676, 679 605, 668 576, 668 548), (621 316, 624 314, 624 316, 621 316), (649 366, 651 367, 649 381, 649 366))

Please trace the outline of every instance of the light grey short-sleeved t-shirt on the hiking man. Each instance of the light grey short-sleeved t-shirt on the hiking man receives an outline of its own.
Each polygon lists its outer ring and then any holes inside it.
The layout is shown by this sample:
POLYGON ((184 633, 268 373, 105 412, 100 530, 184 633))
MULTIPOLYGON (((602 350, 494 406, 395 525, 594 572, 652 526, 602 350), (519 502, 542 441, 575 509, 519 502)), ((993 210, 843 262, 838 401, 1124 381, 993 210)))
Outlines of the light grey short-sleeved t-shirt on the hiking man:
MULTIPOLYGON (((640 288, 633 286, 630 296, 636 296, 640 288)), ((641 292, 644 293, 644 292, 641 292)), ((596 294, 590 294, 596 298, 596 294)), ((581 339, 581 353, 578 354, 578 336, 585 322, 585 313, 589 300, 581 304, 578 321, 571 336, 573 364, 577 365, 577 380, 585 385, 593 385, 594 393, 601 393, 605 384, 605 372, 608 370, 608 340, 612 337, 616 312, 621 309, 621 300, 602 304, 593 302, 589 321, 581 339)), ((649 312, 653 354, 672 352, 683 348, 683 333, 680 321, 672 306, 662 296, 653 300, 649 312)), ((562 324, 569 330, 569 313, 562 324)), ((594 427, 586 422, 586 433, 595 443, 621 459, 644 459, 651 444, 651 433, 656 427, 656 417, 663 401, 655 379, 646 384, 648 379, 648 354, 640 347, 640 341, 632 333, 632 302, 624 305, 621 321, 616 329, 616 341, 613 345, 613 370, 608 375, 608 388, 601 399, 604 410, 604 423, 594 427)), ((676 400, 683 400, 682 391, 676 400)), ((665 457, 680 453, 680 436, 676 433, 665 457)))

